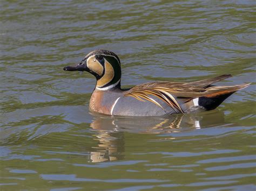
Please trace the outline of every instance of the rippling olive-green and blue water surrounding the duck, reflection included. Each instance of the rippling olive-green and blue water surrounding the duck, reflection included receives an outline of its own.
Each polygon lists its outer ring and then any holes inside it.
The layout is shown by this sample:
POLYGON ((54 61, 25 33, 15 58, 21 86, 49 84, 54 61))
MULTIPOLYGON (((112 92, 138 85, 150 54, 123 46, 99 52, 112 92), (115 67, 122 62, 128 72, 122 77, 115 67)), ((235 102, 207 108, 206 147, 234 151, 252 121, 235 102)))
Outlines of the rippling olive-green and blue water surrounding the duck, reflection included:
POLYGON ((255 1, 1 1, 0 189, 254 190, 255 1), (90 114, 93 49, 123 87, 253 82, 213 111, 165 118, 90 114))

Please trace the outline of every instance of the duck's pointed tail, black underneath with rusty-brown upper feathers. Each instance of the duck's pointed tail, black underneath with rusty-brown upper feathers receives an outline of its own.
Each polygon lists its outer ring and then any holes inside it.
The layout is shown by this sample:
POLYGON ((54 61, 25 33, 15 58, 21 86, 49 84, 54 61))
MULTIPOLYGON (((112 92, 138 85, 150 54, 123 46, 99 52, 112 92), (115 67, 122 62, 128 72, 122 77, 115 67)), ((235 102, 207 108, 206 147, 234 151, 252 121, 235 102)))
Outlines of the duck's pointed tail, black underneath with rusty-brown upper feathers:
POLYGON ((206 88, 208 94, 198 98, 198 105, 206 110, 217 108, 227 97, 235 91, 246 88, 251 83, 239 84, 235 86, 211 86, 206 88))

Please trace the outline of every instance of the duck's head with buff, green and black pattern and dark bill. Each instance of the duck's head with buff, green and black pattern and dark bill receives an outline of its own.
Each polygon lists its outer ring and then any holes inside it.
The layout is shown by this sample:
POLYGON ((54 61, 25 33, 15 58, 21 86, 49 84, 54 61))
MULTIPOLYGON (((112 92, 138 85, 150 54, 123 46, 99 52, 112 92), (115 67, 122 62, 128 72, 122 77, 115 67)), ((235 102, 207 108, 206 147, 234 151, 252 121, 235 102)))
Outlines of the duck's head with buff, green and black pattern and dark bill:
POLYGON ((98 49, 92 51, 74 66, 63 68, 67 71, 86 71, 97 79, 96 89, 107 90, 114 87, 120 88, 121 65, 116 54, 111 51, 98 49))

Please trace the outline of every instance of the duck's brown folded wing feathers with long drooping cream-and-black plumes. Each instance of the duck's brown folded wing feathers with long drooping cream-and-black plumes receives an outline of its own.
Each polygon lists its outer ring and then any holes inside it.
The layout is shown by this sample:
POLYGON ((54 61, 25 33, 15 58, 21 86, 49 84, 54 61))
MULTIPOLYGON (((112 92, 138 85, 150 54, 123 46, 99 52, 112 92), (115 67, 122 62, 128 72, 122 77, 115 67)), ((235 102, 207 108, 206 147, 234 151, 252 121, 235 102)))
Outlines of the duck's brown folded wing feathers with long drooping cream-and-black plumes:
MULTIPOLYGON (((161 105, 154 99, 154 96, 168 104, 173 110, 184 113, 179 102, 186 103, 198 97, 216 97, 220 95, 231 95, 235 91, 247 87, 249 84, 235 86, 210 86, 214 82, 231 77, 221 75, 212 79, 201 80, 190 83, 180 82, 149 82, 134 86, 124 96, 132 96, 139 101, 150 101, 161 105), (179 100, 179 102, 177 101, 179 100)), ((162 108, 162 107, 161 107, 162 108)))

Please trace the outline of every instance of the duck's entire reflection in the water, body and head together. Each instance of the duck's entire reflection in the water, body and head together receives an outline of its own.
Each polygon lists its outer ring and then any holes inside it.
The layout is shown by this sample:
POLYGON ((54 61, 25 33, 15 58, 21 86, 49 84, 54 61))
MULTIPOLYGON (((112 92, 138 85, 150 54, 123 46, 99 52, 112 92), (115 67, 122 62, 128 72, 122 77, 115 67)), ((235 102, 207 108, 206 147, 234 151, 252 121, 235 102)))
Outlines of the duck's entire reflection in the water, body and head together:
POLYGON ((223 124, 224 113, 212 111, 200 115, 172 115, 157 117, 108 117, 95 115, 91 128, 95 131, 98 146, 92 147, 91 161, 103 162, 124 158, 124 132, 168 133, 189 131, 223 124))

